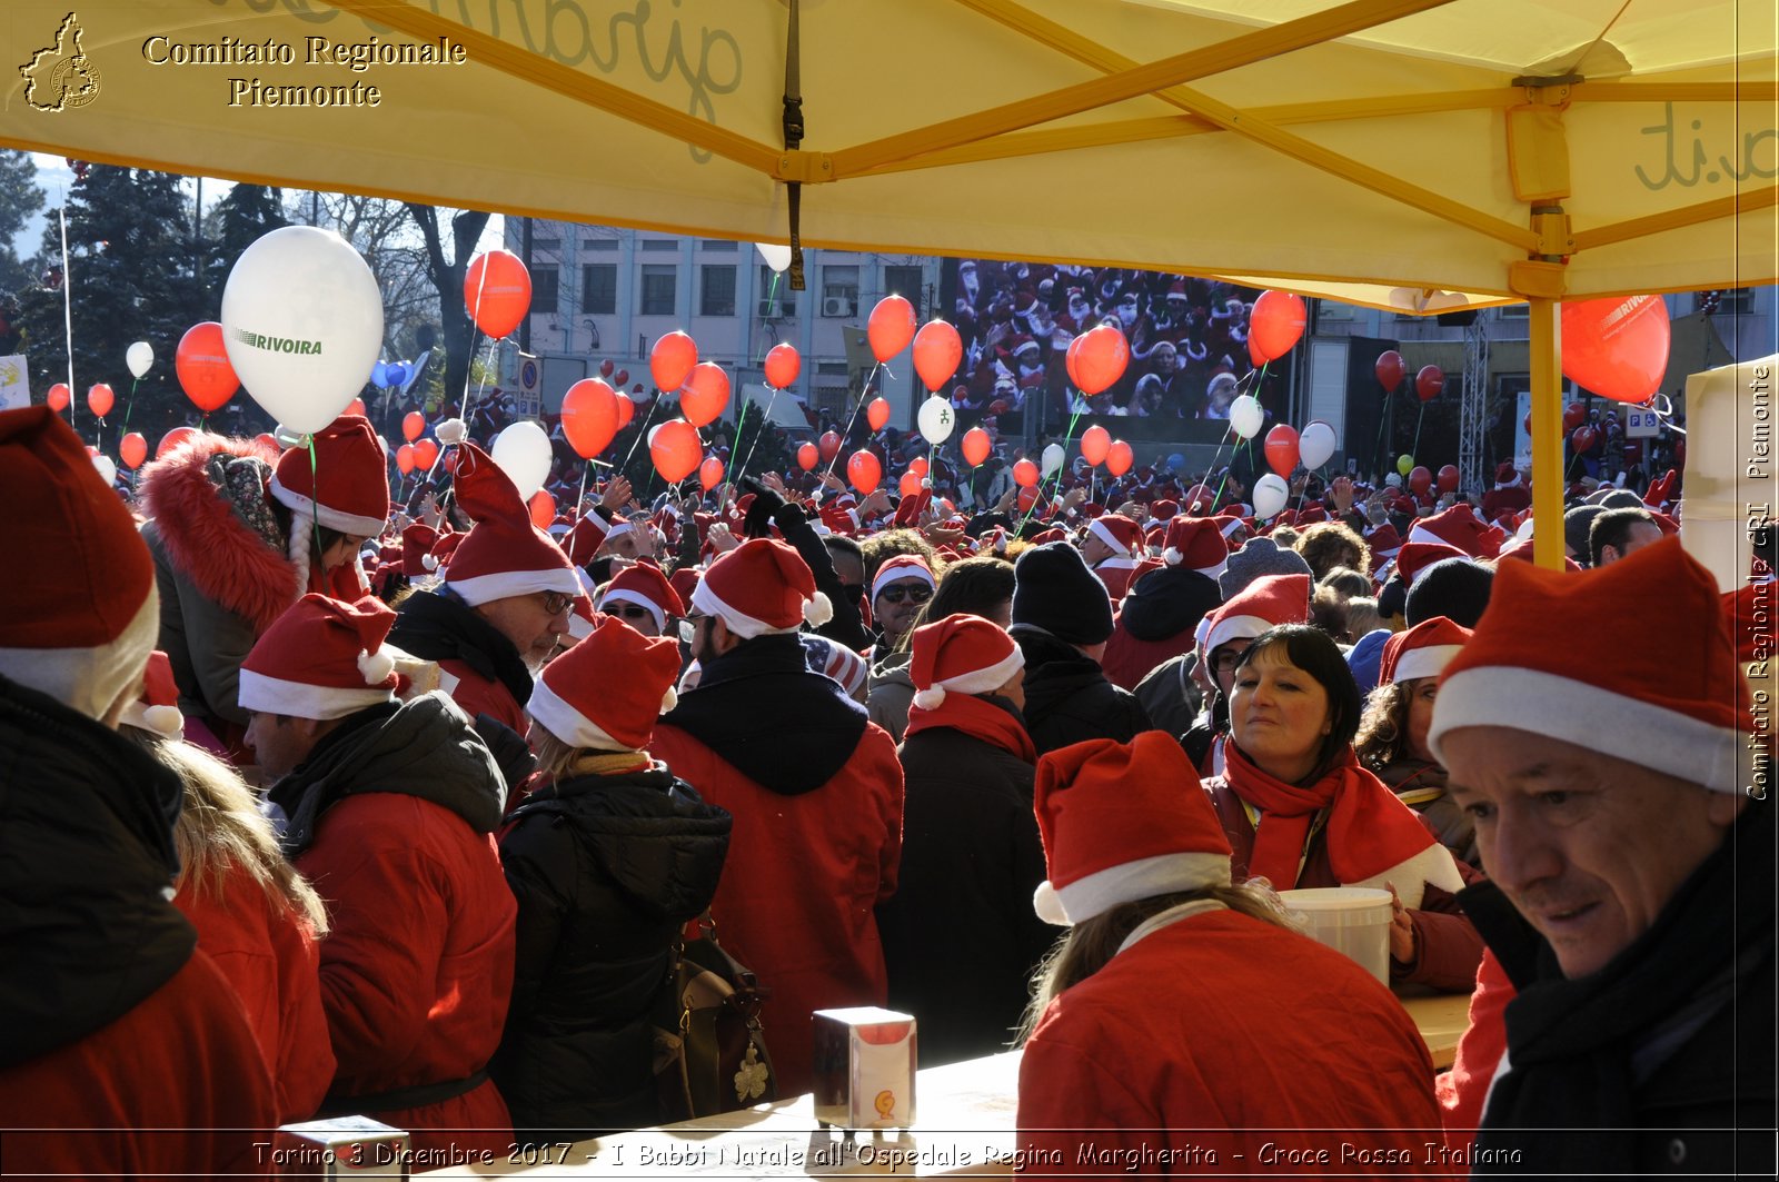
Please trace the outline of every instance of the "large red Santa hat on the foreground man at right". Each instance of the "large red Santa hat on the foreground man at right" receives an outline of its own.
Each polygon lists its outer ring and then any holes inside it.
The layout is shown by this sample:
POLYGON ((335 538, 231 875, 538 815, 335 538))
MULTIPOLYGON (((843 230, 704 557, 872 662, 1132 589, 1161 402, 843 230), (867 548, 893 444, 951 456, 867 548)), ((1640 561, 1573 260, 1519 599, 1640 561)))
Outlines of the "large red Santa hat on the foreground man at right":
POLYGON ((1501 563, 1475 636, 1439 680, 1427 744, 1507 726, 1599 749, 1717 792, 1751 783, 1749 687, 1717 579, 1679 539, 1580 573, 1501 563), (1662 627, 1624 643, 1662 603, 1662 627))

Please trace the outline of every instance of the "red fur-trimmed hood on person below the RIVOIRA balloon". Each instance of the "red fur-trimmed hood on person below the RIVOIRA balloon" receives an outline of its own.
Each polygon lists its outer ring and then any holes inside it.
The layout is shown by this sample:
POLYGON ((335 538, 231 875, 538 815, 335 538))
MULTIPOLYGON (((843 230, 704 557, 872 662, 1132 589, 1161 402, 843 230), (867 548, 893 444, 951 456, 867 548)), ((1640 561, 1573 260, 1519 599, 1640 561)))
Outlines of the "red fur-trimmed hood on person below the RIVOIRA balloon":
POLYGON ((272 548, 210 477, 212 457, 226 454, 278 461, 254 440, 199 434, 142 468, 142 506, 155 522, 173 568, 197 591, 263 632, 297 602, 297 568, 272 548))

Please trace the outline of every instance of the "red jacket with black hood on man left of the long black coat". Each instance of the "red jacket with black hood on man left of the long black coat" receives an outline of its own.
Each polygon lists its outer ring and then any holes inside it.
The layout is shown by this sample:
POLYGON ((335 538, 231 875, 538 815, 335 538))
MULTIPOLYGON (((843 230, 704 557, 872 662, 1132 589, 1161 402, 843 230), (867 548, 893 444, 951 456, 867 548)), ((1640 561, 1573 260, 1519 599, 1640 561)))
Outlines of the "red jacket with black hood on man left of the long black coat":
POLYGON ((902 862, 895 742, 866 725, 845 767, 801 796, 760 787, 665 723, 649 753, 735 815, 710 911, 722 945, 772 990, 761 1020, 779 1095, 808 1091, 809 1013, 882 1006, 890 993, 873 908, 895 894, 902 862))

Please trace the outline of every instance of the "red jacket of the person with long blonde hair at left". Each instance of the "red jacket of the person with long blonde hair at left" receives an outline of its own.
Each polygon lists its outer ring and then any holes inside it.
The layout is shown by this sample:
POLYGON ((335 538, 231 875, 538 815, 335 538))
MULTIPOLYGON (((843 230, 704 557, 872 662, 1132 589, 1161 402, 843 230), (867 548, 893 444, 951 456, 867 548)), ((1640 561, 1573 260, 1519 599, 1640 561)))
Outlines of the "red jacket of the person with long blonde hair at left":
POLYGON ((315 929, 290 904, 274 903, 240 863, 229 865, 219 890, 187 881, 173 903, 240 997, 272 1075, 278 1123, 313 1118, 334 1075, 315 929))

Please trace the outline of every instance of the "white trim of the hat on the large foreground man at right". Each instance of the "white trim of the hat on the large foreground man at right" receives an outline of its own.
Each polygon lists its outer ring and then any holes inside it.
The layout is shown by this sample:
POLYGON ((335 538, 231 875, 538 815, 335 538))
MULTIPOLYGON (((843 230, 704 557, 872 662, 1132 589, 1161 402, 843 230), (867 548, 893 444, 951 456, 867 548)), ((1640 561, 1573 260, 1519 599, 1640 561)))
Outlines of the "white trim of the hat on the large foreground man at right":
POLYGON ((1448 676, 1427 728, 1436 760, 1446 762, 1441 741, 1464 726, 1507 726, 1589 751, 1610 735, 1610 753, 1630 764, 1713 792, 1740 792, 1749 783, 1749 744, 1735 728, 1542 669, 1471 666, 1448 676))

